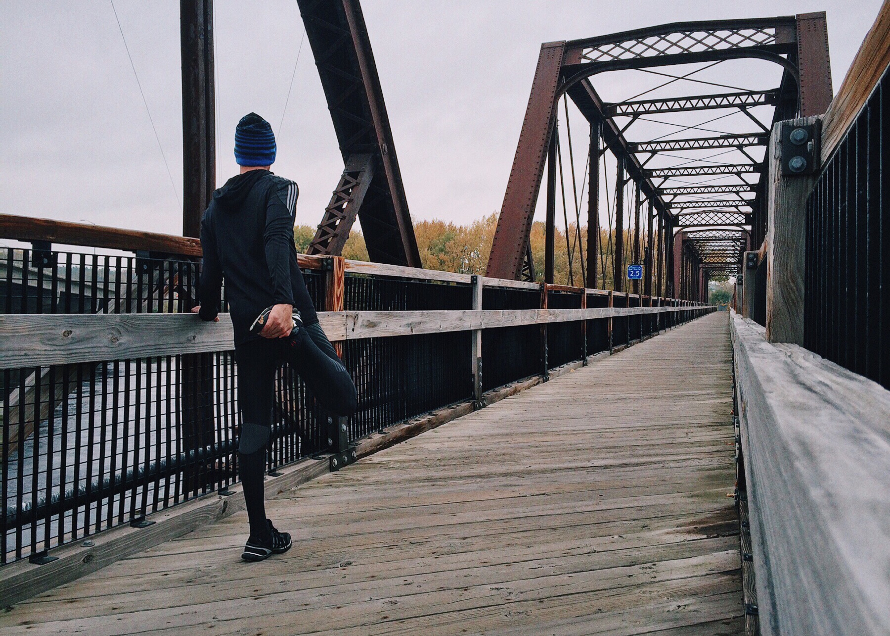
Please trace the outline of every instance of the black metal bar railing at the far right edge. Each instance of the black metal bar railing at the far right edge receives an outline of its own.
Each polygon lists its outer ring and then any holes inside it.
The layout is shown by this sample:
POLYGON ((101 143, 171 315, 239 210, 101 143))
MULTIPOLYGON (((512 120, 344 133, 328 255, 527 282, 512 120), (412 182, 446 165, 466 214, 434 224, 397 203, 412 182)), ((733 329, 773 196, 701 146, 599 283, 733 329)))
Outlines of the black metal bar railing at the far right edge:
POLYGON ((890 79, 806 204, 805 347, 890 388, 890 79))

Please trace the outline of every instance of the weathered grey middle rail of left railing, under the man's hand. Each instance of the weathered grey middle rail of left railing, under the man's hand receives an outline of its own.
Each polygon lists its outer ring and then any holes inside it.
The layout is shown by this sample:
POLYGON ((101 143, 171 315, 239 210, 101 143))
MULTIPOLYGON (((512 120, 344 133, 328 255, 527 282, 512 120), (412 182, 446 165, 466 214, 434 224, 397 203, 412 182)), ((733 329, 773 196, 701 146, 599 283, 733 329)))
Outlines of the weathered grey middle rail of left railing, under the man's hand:
MULTIPOLYGON (((707 309, 707 306, 319 312, 332 341, 579 322, 707 309)), ((0 315, 0 369, 197 354, 232 348, 230 314, 201 322, 194 314, 0 315)))

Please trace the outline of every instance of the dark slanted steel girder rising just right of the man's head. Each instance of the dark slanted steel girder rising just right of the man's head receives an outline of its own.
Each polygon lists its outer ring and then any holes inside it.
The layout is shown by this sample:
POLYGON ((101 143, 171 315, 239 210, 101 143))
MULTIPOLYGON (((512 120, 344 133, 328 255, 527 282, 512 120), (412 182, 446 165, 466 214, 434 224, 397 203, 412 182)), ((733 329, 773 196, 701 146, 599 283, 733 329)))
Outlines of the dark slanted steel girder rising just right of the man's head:
MULTIPOLYGON (((319 69, 344 165, 353 155, 365 154, 371 155, 375 164, 368 192, 355 212, 365 235, 368 257, 378 263, 420 267, 392 129, 359 0, 297 0, 297 5, 319 69)), ((327 216, 326 211, 322 224, 329 220, 327 216)), ((341 223, 333 229, 348 235, 350 225, 341 223)), ((316 238, 321 239, 319 235, 316 238)), ((345 238, 328 237, 326 244, 342 245, 345 238)))

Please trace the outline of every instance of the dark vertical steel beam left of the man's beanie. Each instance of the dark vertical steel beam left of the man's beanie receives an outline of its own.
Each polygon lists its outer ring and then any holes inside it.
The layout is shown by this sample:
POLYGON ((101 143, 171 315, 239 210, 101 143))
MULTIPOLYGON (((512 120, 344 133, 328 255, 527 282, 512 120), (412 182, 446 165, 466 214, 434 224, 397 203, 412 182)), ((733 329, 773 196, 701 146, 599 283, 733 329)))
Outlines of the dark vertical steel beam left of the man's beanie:
POLYGON ((180 0, 182 234, 198 237, 216 188, 214 3, 180 0))

